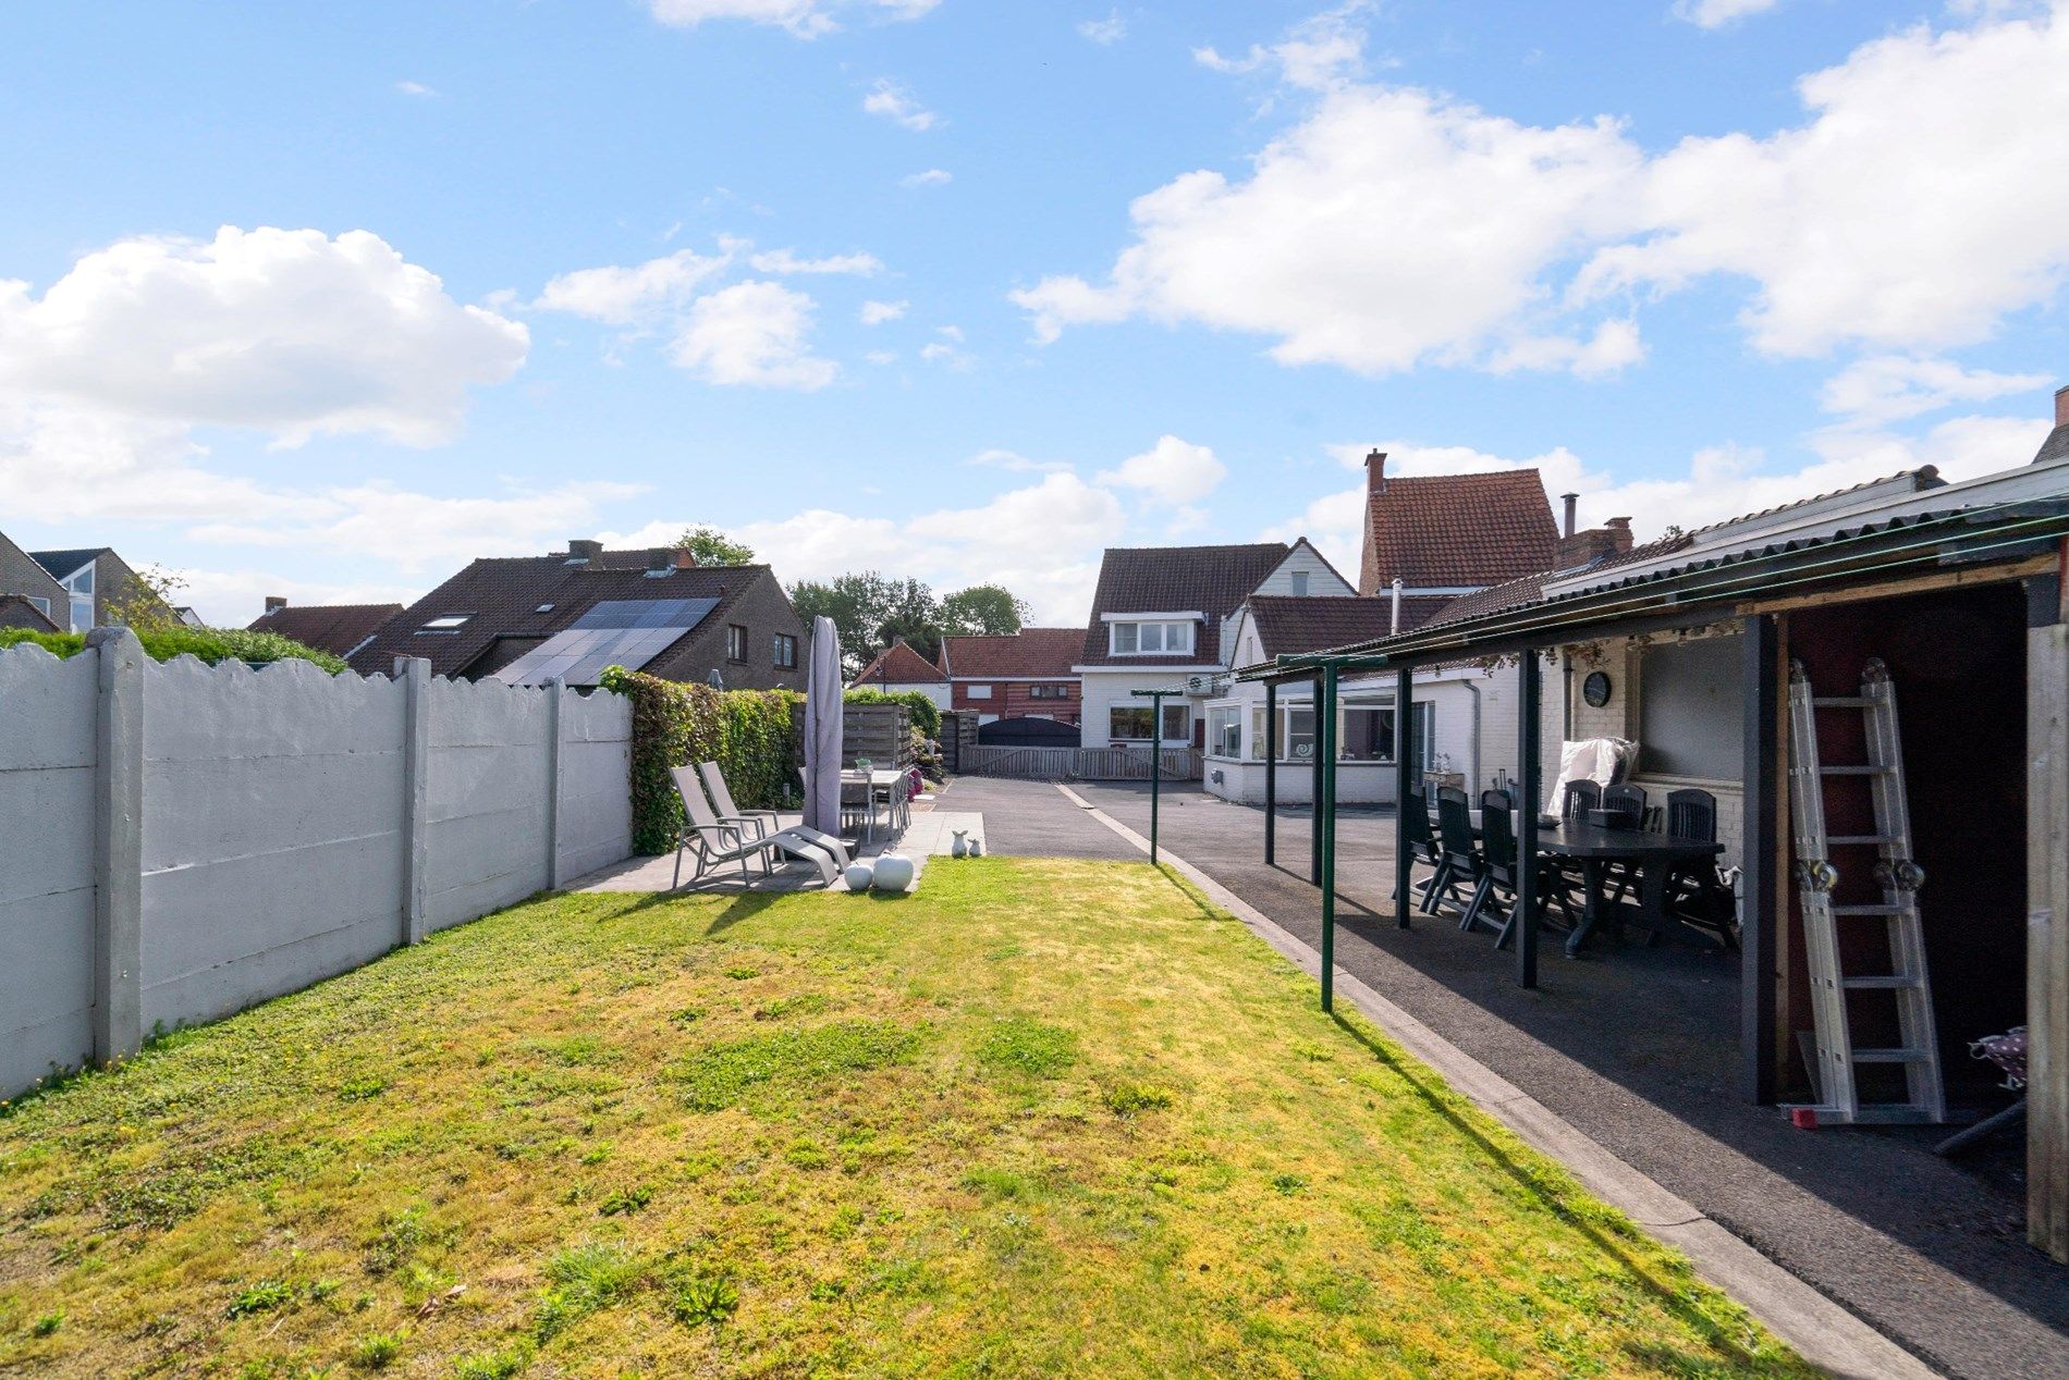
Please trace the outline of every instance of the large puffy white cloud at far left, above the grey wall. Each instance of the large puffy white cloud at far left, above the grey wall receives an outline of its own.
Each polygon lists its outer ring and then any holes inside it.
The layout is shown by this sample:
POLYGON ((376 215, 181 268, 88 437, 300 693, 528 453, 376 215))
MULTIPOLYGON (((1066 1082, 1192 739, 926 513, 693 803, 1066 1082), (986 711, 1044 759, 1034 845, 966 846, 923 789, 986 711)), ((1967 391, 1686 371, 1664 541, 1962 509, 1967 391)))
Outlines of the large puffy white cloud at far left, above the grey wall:
POLYGON ((523 325, 461 306, 364 230, 122 240, 41 298, 0 279, 0 395, 279 445, 321 432, 437 445, 459 430, 470 389, 507 381, 528 346, 523 325))

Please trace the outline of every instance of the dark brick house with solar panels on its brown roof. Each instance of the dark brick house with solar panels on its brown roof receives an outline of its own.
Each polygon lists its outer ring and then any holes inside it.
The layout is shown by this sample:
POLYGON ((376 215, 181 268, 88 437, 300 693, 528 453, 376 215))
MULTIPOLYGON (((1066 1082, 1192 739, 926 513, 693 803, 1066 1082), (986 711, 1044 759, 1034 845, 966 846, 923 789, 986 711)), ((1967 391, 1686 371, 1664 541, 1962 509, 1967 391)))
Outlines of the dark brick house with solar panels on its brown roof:
POLYGON ((434 674, 596 685, 608 664, 724 689, 805 689, 805 625, 768 565, 697 565, 689 552, 604 550, 480 559, 410 604, 350 658, 387 674, 397 656, 434 674))

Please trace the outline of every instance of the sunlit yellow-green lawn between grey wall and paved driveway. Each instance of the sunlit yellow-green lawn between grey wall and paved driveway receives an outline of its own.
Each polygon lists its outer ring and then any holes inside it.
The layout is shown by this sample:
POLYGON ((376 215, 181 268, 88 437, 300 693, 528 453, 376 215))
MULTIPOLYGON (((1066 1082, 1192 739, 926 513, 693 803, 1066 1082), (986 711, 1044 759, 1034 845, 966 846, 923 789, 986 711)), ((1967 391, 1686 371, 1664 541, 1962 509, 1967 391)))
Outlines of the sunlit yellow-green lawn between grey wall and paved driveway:
POLYGON ((8 1374, 1810 1374, 1136 863, 554 896, 0 1119, 8 1374))

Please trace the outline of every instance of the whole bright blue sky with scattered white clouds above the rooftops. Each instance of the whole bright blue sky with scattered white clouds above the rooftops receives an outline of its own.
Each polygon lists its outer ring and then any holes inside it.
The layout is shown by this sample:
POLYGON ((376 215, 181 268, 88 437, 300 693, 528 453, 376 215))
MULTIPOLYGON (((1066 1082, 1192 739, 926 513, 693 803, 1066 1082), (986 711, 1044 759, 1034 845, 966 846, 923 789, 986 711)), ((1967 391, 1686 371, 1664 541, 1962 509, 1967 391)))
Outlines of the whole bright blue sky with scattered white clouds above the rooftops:
POLYGON ((2069 8, 0 12, 0 530, 263 594, 685 523, 784 579, 1314 536, 1355 457, 1697 526, 2023 463, 2069 8))

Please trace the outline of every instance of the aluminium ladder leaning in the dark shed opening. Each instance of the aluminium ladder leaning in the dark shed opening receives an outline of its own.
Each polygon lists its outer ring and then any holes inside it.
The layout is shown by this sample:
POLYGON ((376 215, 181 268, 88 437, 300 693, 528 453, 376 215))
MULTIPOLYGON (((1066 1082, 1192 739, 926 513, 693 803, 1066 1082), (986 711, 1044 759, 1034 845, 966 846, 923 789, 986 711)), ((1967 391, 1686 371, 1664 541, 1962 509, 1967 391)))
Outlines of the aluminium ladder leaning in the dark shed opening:
POLYGON ((1802 896, 1804 948, 1810 960, 1810 1014, 1817 1024, 1812 1076, 1825 1121, 1945 1121, 1939 1037, 1932 1024, 1932 987, 1926 981, 1924 929, 1918 888, 1924 869, 1912 859, 1912 817, 1903 794, 1903 745, 1897 739, 1897 691, 1881 658, 1868 658, 1858 695, 1815 695, 1802 662, 1790 662, 1790 817, 1796 832, 1796 888, 1802 896), (1862 710, 1868 761, 1825 766, 1819 759, 1817 712, 1862 710), (1875 834, 1825 832, 1825 782, 1864 776, 1875 801, 1875 834), (1833 904, 1839 869, 1833 848, 1877 850, 1879 904, 1833 904), (1889 931, 1891 972, 1848 974, 1839 962, 1839 921, 1881 919, 1889 931), (1897 1006, 1895 1049, 1854 1045, 1846 993, 1887 991, 1897 1006), (1860 1063, 1901 1063, 1906 1101, 1860 1103, 1854 1070, 1860 1063))

